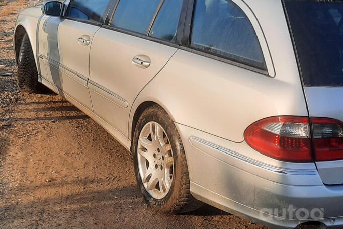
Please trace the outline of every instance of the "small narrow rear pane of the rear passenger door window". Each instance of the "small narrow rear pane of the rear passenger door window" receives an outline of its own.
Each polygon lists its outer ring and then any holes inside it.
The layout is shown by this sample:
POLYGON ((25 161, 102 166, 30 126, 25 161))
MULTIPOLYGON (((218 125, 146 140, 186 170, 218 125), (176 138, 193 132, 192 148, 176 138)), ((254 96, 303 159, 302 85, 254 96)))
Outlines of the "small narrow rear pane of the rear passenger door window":
POLYGON ((149 36, 166 41, 176 41, 183 0, 165 0, 149 36))

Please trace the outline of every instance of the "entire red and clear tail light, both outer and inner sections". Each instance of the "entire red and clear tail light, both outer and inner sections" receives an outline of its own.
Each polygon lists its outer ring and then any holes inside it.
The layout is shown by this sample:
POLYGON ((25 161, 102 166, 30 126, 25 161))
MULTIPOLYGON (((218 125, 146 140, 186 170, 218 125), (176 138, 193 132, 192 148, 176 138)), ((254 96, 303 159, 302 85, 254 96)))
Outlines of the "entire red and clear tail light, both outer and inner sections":
POLYGON ((311 162, 311 140, 315 161, 343 159, 343 123, 330 118, 280 116, 250 125, 244 138, 250 147, 266 156, 288 162, 311 162))

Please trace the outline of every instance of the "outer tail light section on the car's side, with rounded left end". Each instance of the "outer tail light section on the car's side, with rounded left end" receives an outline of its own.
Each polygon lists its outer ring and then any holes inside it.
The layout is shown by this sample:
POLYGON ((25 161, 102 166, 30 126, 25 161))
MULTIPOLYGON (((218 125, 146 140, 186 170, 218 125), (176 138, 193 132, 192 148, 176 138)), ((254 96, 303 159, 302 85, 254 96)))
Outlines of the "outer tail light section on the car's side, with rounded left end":
POLYGON ((310 125, 306 117, 270 117, 250 125, 246 142, 266 156, 288 162, 311 162, 310 125))

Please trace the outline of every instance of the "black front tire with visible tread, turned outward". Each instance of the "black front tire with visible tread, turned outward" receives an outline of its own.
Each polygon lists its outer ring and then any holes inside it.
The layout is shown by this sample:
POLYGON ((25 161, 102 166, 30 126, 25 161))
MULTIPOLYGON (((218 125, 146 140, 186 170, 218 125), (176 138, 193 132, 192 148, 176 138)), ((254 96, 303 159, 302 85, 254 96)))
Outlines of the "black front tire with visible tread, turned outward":
POLYGON ((42 93, 43 85, 38 82, 38 71, 31 43, 25 34, 18 57, 18 87, 21 91, 29 93, 42 93))

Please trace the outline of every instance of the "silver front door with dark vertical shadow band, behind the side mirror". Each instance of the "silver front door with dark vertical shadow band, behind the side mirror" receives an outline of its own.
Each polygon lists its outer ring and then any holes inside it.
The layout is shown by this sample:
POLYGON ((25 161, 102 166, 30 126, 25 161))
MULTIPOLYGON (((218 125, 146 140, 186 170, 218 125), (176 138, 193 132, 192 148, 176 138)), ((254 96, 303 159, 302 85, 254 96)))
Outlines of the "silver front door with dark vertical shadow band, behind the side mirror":
POLYGON ((48 80, 92 110, 87 87, 92 39, 107 15, 111 0, 71 0, 64 17, 51 17, 44 25, 48 80))

